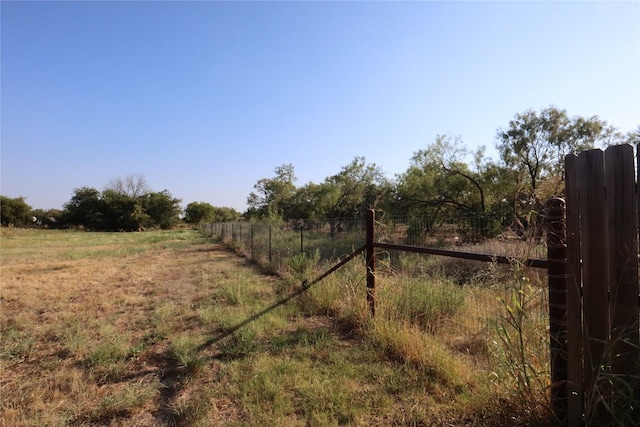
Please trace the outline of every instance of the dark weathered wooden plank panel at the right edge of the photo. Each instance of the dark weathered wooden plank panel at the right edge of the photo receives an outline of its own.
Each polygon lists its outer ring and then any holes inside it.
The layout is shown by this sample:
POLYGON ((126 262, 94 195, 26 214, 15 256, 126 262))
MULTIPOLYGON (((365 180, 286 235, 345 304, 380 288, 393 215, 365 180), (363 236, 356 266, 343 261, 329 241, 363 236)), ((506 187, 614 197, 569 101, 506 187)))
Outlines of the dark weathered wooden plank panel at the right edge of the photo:
POLYGON ((565 173, 566 287, 551 289, 550 281, 550 292, 566 292, 566 311, 556 319, 566 325, 555 338, 566 348, 566 372, 552 373, 562 382, 555 384, 556 415, 569 426, 640 425, 634 148, 568 155, 565 173))

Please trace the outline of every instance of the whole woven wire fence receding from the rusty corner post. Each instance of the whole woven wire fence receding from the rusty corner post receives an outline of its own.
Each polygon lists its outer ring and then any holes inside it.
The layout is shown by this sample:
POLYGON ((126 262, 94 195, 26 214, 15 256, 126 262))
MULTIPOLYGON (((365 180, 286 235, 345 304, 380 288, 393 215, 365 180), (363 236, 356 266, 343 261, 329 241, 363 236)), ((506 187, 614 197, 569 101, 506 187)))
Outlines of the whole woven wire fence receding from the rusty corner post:
MULTIPOLYGON (((377 221, 377 242, 502 255, 514 260, 513 265, 499 265, 401 250, 379 250, 377 280, 382 288, 378 291, 379 303, 384 304, 385 298, 391 302, 400 301, 407 298, 404 294, 411 292, 420 293, 408 296, 417 300, 434 287, 439 287, 441 294, 455 294, 454 299, 459 303, 456 309, 452 307, 449 314, 441 316, 439 322, 446 323, 446 329, 455 330, 461 336, 472 336, 494 328, 514 305, 525 309, 531 322, 544 323, 548 310, 546 270, 526 268, 520 260, 544 258, 546 248, 501 225, 505 223, 508 222, 470 216, 437 227, 416 218, 377 221), (514 295, 525 299, 514 300, 514 295)), ((330 266, 362 247, 366 240, 365 220, 357 218, 315 223, 213 223, 202 225, 201 230, 278 273, 284 272, 288 258, 300 255, 330 266)), ((364 263, 362 268, 364 287, 364 263)), ((403 308, 398 306, 395 309, 403 308)), ((423 309, 430 310, 429 307, 423 309)), ((416 317, 419 318, 420 314, 416 317)))

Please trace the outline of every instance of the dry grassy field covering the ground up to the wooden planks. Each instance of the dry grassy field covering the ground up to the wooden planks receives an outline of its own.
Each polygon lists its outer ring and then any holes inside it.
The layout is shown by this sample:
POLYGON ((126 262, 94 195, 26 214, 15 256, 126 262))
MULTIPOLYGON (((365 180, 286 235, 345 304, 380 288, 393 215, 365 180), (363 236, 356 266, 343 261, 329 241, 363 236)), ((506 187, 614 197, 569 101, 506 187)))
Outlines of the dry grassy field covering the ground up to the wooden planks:
POLYGON ((305 288, 317 260, 267 274, 194 230, 3 228, 0 243, 3 426, 551 421, 529 278, 389 274, 371 319, 362 260, 305 288), (510 314, 478 327, 479 302, 510 314))

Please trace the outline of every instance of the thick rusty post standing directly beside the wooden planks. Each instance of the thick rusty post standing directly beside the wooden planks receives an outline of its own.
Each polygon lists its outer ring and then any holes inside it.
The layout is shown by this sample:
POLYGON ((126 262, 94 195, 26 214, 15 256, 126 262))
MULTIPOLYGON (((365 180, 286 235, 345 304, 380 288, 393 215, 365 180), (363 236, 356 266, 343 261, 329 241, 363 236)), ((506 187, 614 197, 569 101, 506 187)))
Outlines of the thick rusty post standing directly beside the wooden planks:
POLYGON ((564 199, 546 205, 549 286, 551 406, 559 425, 567 424, 567 239, 564 199))

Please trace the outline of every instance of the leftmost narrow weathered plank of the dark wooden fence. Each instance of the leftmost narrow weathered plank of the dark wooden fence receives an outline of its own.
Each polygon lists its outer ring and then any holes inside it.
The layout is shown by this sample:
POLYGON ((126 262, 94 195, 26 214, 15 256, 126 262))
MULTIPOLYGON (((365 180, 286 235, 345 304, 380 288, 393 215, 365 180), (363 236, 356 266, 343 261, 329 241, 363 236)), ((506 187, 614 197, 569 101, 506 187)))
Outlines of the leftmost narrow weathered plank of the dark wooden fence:
POLYGON ((580 264, 580 213, 576 163, 565 157, 567 224, 567 424, 582 424, 582 268, 580 264))

